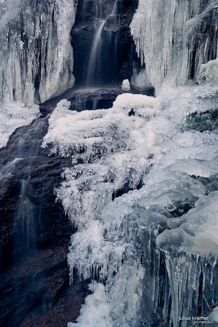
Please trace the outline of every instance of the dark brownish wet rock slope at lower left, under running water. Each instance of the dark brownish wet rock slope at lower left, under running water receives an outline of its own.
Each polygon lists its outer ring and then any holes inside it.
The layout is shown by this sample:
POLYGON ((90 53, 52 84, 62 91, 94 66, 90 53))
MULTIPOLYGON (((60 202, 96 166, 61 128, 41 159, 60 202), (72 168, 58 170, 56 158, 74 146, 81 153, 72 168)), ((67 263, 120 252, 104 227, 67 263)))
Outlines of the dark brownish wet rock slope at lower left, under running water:
POLYGON ((78 317, 85 296, 81 282, 69 286, 67 253, 73 230, 54 194, 71 160, 49 157, 49 149, 41 148, 48 129, 48 112, 43 108, 41 112, 41 118, 18 128, 0 150, 0 326, 4 327, 67 326, 78 317))

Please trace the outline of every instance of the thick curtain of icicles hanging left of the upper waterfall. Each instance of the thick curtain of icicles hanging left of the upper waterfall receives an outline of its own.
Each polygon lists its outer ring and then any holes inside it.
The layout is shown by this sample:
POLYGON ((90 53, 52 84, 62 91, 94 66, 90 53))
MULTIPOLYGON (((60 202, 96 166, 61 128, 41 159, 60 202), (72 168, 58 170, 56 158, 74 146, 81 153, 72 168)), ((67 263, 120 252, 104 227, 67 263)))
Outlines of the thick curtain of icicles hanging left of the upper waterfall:
POLYGON ((44 102, 74 84, 70 31, 77 1, 0 6, 0 100, 44 102))

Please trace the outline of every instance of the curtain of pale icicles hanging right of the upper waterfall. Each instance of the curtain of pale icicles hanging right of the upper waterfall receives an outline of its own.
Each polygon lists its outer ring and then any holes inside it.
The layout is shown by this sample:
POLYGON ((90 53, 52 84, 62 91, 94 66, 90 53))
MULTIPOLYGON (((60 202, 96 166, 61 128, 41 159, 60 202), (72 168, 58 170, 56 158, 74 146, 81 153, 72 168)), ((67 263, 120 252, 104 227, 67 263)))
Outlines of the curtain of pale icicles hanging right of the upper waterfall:
POLYGON ((131 33, 151 83, 184 83, 217 56, 216 0, 140 0, 131 33))

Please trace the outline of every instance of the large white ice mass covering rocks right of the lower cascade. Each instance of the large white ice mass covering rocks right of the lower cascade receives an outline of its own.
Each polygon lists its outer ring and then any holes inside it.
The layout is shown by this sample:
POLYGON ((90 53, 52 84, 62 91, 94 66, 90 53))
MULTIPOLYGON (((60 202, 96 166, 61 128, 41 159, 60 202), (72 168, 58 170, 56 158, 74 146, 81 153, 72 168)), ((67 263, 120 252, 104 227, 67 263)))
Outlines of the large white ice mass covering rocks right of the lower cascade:
MULTIPOLYGON (((184 129, 190 112, 218 109, 217 91, 211 82, 164 84, 156 98, 119 95, 111 109, 80 113, 69 111, 70 103, 62 100, 49 119, 43 146, 51 144, 52 153, 72 156, 74 164, 65 169, 56 190, 78 227, 68 255, 71 282, 76 268, 80 278, 106 284, 111 326, 155 321, 161 306, 166 321, 170 295, 171 321, 177 326, 182 308, 184 315, 197 310, 199 276, 204 279, 201 298, 206 294, 209 301, 218 300, 216 273, 211 277, 217 271, 217 243, 210 228, 216 219, 211 211, 217 198, 211 192, 218 189, 218 133, 184 129), (135 115, 129 116, 132 108, 135 115), (126 181, 133 188, 139 181, 144 186, 112 201, 112 192, 126 181), (214 203, 208 204, 208 198, 214 203), (202 203, 205 207, 198 209, 202 203), (196 234, 193 216, 198 216, 196 234), (177 230, 180 246, 173 252, 177 230)), ((84 305, 78 326, 85 326, 90 305, 84 305)), ((95 310, 95 302, 92 306, 95 310)))

